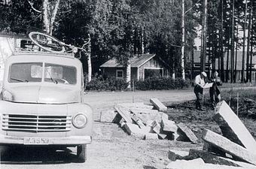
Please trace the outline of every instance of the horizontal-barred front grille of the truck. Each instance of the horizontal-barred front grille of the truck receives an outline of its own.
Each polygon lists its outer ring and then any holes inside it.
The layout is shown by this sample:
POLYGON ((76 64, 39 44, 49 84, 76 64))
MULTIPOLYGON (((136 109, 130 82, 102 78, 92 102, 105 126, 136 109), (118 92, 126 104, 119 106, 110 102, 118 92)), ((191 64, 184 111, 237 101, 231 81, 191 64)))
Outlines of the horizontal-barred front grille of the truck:
POLYGON ((70 131, 72 116, 3 114, 2 129, 5 131, 70 131))

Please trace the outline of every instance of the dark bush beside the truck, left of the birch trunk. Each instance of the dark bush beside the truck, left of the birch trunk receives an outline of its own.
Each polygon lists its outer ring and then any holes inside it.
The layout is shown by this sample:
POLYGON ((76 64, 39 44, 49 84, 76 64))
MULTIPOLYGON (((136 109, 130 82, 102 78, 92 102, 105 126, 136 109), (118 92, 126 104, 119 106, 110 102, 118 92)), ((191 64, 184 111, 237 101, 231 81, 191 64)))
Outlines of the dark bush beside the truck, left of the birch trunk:
POLYGON ((93 78, 90 83, 87 83, 87 90, 105 90, 105 91, 115 91, 115 90, 124 90, 128 86, 128 83, 122 79, 116 79, 114 77, 103 79, 102 77, 93 78))

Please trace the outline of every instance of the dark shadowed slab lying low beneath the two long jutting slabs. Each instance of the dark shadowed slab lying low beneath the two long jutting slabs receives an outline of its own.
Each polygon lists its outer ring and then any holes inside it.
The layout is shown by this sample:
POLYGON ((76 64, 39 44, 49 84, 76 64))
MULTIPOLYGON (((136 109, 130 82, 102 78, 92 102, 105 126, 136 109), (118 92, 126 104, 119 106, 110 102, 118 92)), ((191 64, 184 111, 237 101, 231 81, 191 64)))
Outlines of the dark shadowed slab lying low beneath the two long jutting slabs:
POLYGON ((219 157, 213 154, 212 152, 206 152, 198 149, 190 149, 189 157, 192 159, 202 158, 205 163, 210 163, 210 164, 221 164, 221 165, 240 167, 239 164, 236 164, 233 161, 229 161, 226 158, 219 157))

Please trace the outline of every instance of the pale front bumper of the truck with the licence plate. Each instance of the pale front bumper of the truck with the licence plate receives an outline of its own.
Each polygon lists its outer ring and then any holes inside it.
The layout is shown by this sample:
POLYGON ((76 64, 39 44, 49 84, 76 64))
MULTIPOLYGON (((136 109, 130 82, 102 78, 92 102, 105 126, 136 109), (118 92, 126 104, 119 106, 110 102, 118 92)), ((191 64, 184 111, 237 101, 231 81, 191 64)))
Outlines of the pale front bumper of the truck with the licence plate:
POLYGON ((0 145, 79 145, 92 142, 91 136, 70 136, 70 137, 11 137, 0 136, 0 145))

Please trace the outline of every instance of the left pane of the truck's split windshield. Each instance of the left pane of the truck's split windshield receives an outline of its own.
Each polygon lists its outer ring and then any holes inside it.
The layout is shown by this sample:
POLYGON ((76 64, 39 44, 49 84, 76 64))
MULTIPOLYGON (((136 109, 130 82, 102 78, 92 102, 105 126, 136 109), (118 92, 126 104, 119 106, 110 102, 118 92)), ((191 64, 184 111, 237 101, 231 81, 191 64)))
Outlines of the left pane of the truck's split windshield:
POLYGON ((11 65, 8 82, 41 82, 43 63, 14 63, 11 65))

